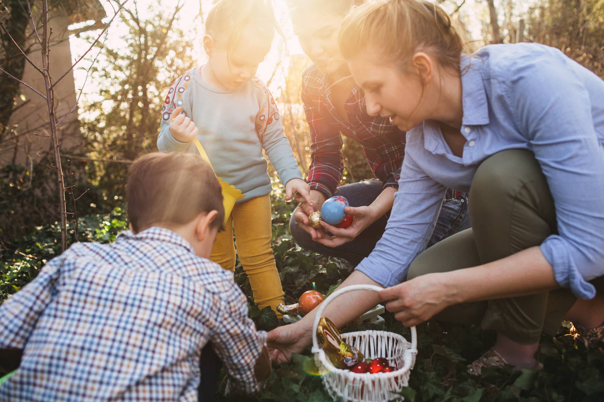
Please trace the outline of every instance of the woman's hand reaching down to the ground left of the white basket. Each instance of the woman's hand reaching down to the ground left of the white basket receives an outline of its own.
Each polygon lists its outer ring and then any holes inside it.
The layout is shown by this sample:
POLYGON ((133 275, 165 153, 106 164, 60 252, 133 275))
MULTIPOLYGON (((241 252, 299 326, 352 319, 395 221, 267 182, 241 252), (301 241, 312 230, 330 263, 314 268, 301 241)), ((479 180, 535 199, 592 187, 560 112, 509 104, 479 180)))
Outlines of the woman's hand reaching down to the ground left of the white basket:
POLYGON ((312 327, 300 322, 282 325, 268 333, 266 345, 273 363, 291 362, 292 353, 300 353, 312 343, 312 327))

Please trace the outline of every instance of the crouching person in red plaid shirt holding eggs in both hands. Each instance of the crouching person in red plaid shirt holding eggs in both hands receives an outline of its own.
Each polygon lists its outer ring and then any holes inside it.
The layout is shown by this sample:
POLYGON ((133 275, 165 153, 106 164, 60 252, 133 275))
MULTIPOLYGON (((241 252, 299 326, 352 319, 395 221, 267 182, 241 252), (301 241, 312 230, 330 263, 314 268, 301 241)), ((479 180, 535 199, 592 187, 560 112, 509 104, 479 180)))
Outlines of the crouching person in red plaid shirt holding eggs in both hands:
MULTIPOLYGON (((400 168, 405 132, 388 118, 370 115, 364 92, 355 85, 339 55, 338 28, 358 0, 291 0, 294 32, 313 61, 303 73, 301 97, 310 128, 311 165, 307 182, 313 206, 301 203, 290 222, 292 236, 304 248, 359 263, 384 233, 400 168), (341 134, 359 142, 377 179, 338 187, 342 178, 341 134), (308 216, 335 194, 345 196, 355 218, 349 228, 324 224, 333 236, 309 226, 308 216)), ((467 196, 448 190, 428 247, 469 227, 467 196)))

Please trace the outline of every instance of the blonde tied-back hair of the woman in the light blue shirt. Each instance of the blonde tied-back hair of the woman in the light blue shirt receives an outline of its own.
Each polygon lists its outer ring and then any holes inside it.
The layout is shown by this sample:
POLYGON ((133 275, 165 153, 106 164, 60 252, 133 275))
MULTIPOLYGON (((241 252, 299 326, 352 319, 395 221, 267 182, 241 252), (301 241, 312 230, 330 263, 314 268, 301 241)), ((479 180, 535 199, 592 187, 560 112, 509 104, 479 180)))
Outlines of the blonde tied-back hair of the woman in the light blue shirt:
POLYGON ((458 71, 464 51, 448 14, 427 0, 374 0, 355 8, 342 22, 338 45, 345 60, 371 47, 390 55, 403 71, 418 51, 458 71))

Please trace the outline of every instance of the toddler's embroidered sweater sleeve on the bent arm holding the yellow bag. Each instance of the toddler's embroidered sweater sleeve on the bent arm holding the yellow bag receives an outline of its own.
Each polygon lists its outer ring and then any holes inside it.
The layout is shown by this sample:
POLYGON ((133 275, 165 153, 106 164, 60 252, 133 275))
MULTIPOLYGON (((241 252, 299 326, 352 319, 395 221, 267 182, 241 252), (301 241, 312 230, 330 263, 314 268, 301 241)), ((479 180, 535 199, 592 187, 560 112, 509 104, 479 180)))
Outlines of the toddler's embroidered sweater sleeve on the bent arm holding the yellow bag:
POLYGON ((161 125, 159 136, 157 137, 157 148, 161 152, 194 152, 192 142, 180 142, 170 133, 170 122, 172 121, 172 112, 176 107, 182 106, 181 113, 185 116, 192 116, 193 108, 192 98, 187 89, 188 84, 193 79, 193 70, 187 70, 174 81, 164 99, 164 106, 161 111, 161 125))

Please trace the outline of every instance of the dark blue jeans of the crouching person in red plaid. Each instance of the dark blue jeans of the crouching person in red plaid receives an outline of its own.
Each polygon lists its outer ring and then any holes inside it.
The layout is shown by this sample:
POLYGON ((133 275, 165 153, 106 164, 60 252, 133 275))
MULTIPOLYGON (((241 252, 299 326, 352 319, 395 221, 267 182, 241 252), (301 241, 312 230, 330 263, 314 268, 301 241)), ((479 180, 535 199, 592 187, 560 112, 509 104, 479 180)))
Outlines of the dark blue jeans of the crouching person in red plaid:
MULTIPOLYGON (((338 187, 336 194, 348 199, 351 207, 368 206, 382 192, 382 186, 382 182, 376 179, 359 181, 359 183, 338 187)), ((292 219, 289 221, 289 231, 300 247, 325 256, 343 258, 356 265, 373 251, 377 240, 381 239, 386 228, 388 216, 390 216, 390 212, 373 222, 352 242, 333 248, 325 247, 313 241, 310 234, 298 227, 298 222, 295 221, 294 215, 292 215, 292 219)), ((470 218, 467 213, 467 194, 460 193, 459 196, 455 197, 454 191, 447 190, 443 206, 440 209, 439 219, 436 222, 426 248, 451 236, 451 234, 469 227, 470 218)))

